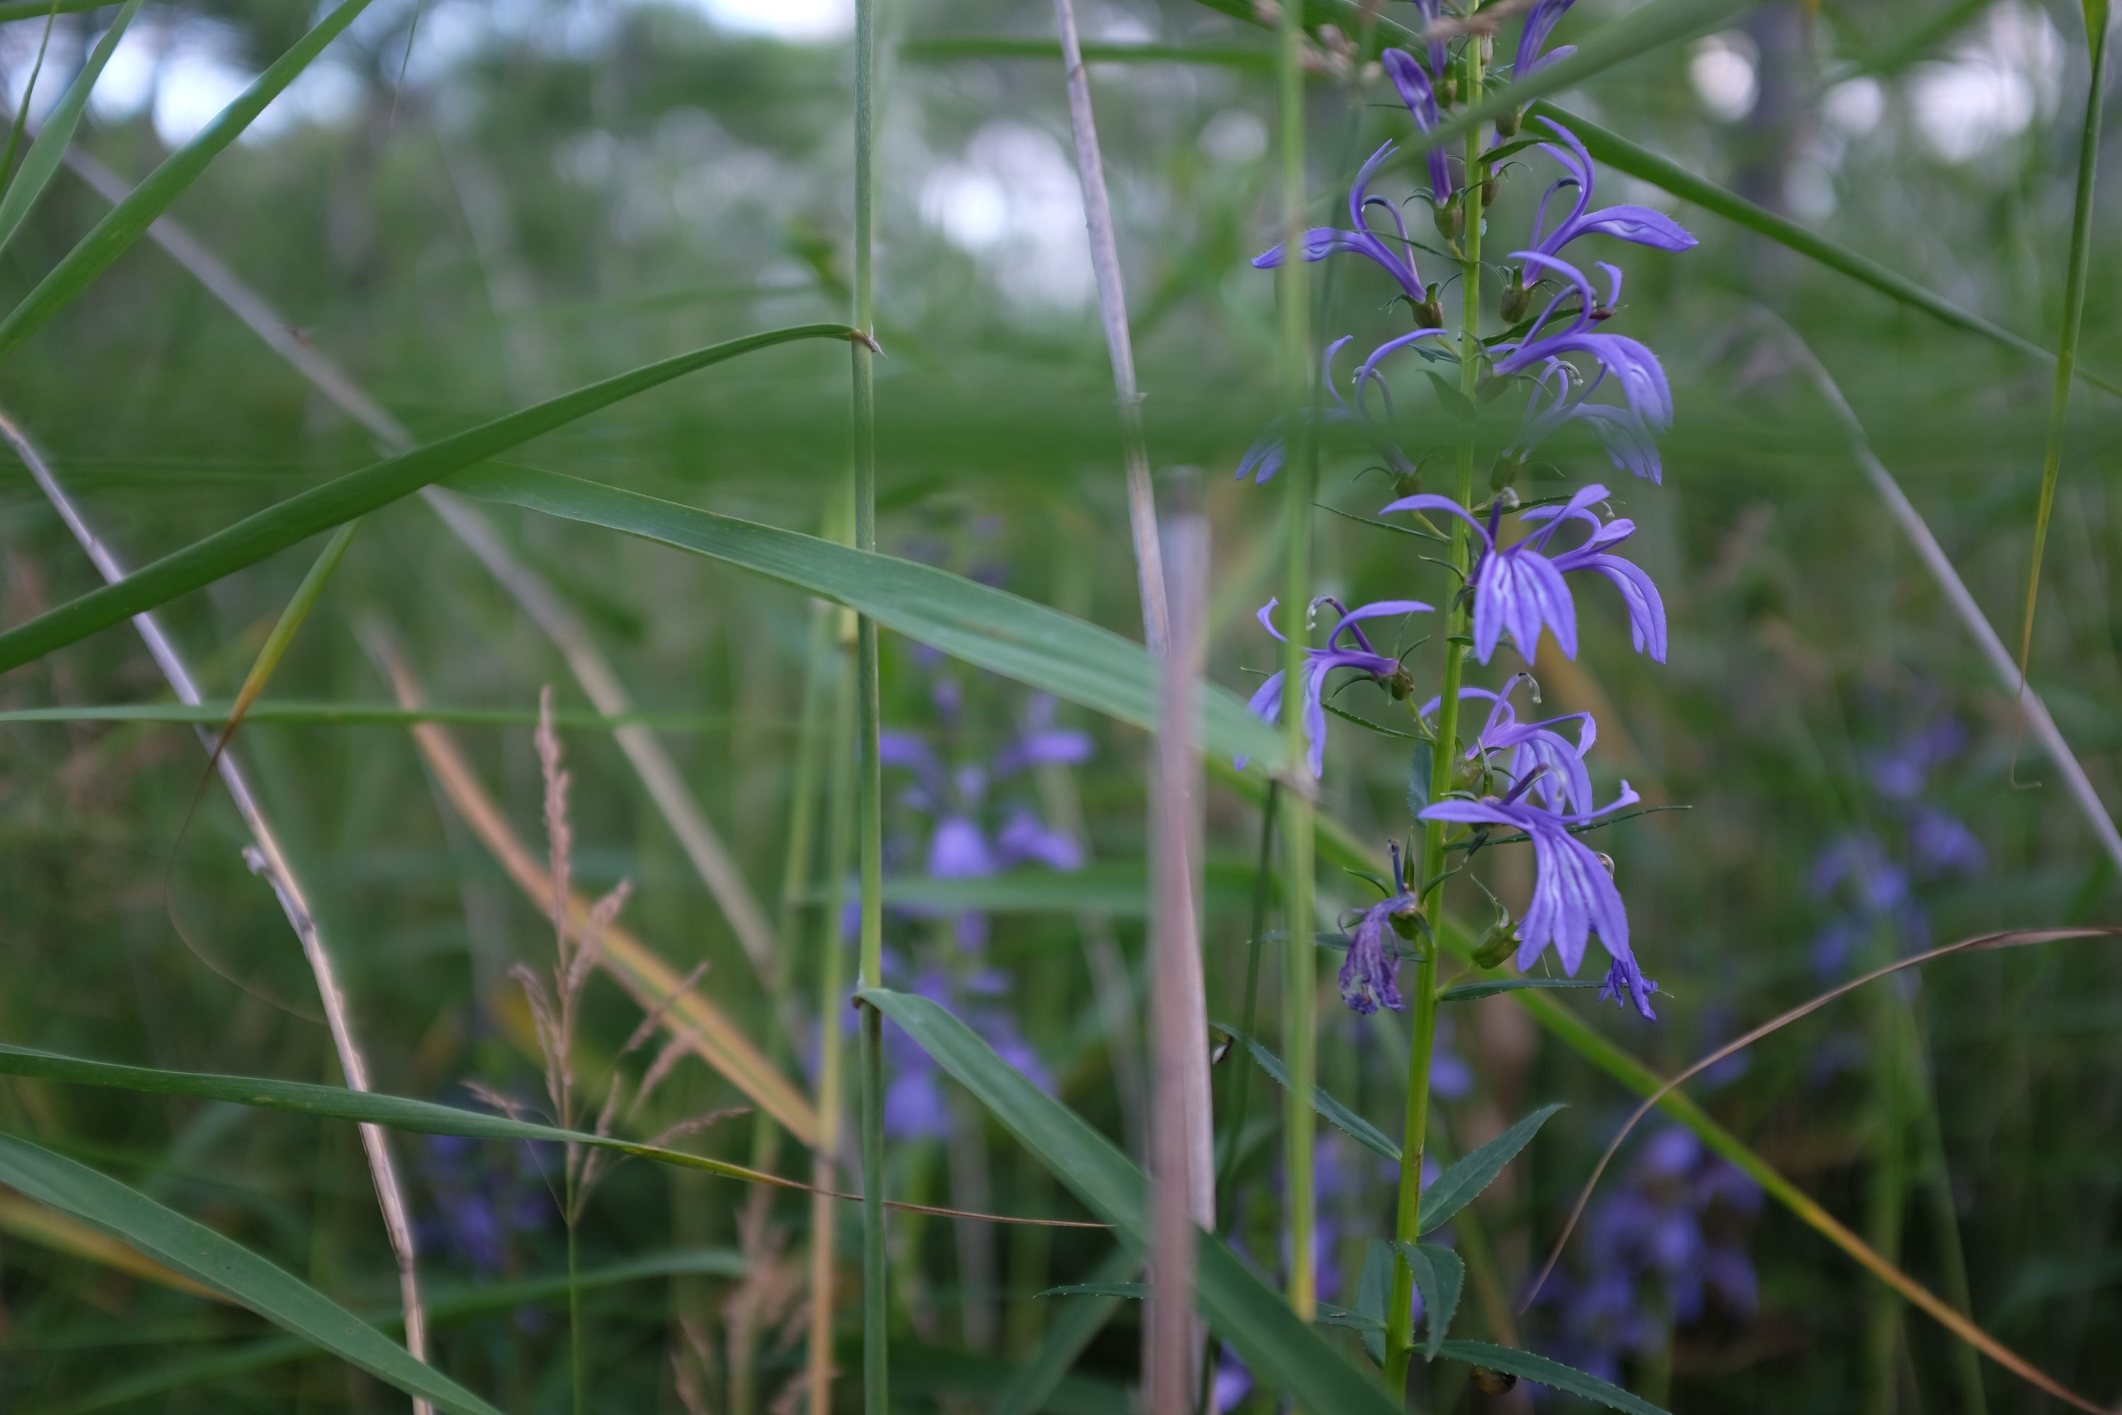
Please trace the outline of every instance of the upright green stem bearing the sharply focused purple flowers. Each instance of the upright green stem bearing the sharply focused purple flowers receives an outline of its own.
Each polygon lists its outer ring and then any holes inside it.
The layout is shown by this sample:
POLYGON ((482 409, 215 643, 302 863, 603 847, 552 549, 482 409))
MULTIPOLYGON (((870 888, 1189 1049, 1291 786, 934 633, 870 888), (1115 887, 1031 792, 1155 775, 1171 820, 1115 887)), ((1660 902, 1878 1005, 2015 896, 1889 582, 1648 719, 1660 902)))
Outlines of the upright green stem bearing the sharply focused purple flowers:
MULTIPOLYGON (((1464 53, 1466 102, 1481 102, 1481 42, 1468 42, 1464 53)), ((1460 392, 1475 397, 1481 382, 1481 127, 1466 132, 1464 172, 1464 216, 1466 233, 1460 244, 1460 392)), ((1473 503, 1473 431, 1460 433, 1458 450, 1458 501, 1473 503)), ((1458 766, 1458 698, 1460 677, 1466 668, 1466 649, 1456 639, 1466 632, 1466 607, 1458 598, 1458 586, 1466 583, 1471 562, 1471 541, 1466 524, 1451 520, 1451 566, 1458 571, 1451 586, 1451 607, 1445 615, 1443 634, 1443 681, 1437 706, 1437 743, 1430 749, 1432 793, 1447 791, 1451 770, 1458 766)), ((1430 925, 1430 942, 1422 946, 1415 963, 1413 984, 1413 1046, 1407 1052, 1407 1124, 1401 1137, 1401 1203, 1392 1224, 1392 1237, 1413 1243, 1422 1230, 1422 1150, 1430 1129, 1430 1052, 1437 1050, 1437 942, 1443 933, 1443 889, 1428 885, 1445 870, 1445 825, 1426 821, 1422 827, 1422 914, 1430 925)), ((1305 1093, 1309 1095, 1309 1090, 1305 1093)), ((1407 1366, 1413 1356, 1415 1328, 1415 1275, 1405 1262, 1392 1264, 1392 1300, 1386 1307, 1386 1387, 1405 1398, 1407 1366)))

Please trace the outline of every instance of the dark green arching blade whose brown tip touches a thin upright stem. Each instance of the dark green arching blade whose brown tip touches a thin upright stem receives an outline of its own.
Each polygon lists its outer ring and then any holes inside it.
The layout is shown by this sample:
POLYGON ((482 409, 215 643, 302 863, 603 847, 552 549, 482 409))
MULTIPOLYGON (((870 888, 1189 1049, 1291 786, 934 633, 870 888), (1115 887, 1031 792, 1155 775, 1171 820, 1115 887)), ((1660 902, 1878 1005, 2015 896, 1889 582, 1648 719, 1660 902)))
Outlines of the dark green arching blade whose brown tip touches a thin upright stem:
POLYGON ((475 462, 567 426, 601 407, 611 407, 637 392, 647 392, 683 373, 736 359, 738 354, 772 348, 775 344, 789 344, 792 339, 855 337, 855 331, 847 325, 792 325, 787 329, 745 335, 743 339, 728 339, 690 354, 643 365, 505 418, 494 418, 454 437, 414 448, 403 456, 350 471, 299 496, 289 496, 257 516, 248 516, 225 530, 216 530, 204 541, 195 541, 153 564, 144 564, 112 586, 91 590, 28 624, 11 628, 0 634, 0 672, 34 662, 53 649, 64 649, 102 628, 121 624, 142 609, 166 605, 187 590, 197 590, 225 575, 233 575, 320 530, 344 526, 354 518, 390 505, 399 496, 410 496, 422 486, 441 482, 475 462))

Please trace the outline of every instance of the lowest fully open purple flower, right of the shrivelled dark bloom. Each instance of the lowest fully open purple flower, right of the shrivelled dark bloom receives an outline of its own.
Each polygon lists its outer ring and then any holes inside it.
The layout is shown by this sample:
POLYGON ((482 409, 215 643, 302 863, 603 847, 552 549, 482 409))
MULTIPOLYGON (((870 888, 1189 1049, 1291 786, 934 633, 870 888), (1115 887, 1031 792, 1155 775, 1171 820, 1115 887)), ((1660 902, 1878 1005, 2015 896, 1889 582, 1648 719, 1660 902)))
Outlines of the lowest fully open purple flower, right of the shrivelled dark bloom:
MULTIPOLYGON (((1517 791, 1524 791, 1519 783, 1517 791)), ((1513 791, 1511 796, 1517 796, 1513 791)), ((1553 944, 1562 969, 1575 974, 1585 959, 1585 942, 1598 942, 1617 963, 1636 967, 1628 948, 1628 908, 1621 891, 1600 857, 1577 836, 1572 825, 1587 825, 1602 815, 1634 806, 1640 796, 1621 783, 1621 793, 1600 810, 1564 815, 1509 798, 1441 800, 1422 813, 1424 821, 1458 821, 1462 825, 1509 825, 1532 836, 1532 904, 1517 925, 1517 967, 1532 967, 1553 944)))

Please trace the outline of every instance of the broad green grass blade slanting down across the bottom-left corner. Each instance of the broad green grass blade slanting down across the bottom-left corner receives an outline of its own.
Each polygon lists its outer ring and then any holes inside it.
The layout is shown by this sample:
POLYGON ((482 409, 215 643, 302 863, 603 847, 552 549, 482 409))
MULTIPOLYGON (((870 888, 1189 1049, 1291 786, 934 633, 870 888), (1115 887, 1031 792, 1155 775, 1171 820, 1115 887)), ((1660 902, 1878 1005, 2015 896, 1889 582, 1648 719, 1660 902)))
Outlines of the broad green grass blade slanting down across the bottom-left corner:
POLYGON ((452 1415, 501 1415, 316 1288, 110 1175, 17 1135, 0 1135, 0 1184, 102 1228, 166 1269, 227 1294, 267 1322, 452 1415))

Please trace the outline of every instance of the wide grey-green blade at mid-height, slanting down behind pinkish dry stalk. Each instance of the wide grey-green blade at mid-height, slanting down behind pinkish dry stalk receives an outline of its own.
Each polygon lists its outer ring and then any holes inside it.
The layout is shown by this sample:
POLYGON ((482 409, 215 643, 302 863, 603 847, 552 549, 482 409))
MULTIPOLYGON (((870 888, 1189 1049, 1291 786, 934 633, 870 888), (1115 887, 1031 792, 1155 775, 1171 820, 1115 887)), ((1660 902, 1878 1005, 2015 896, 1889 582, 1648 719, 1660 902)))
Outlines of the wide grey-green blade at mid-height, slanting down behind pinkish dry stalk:
MULTIPOLYGON (((482 467, 452 490, 734 564, 1055 698, 1156 728, 1156 666, 1142 645, 963 575, 550 471, 482 467)), ((1282 738, 1229 689, 1199 692, 1205 751, 1282 762, 1282 738)))

